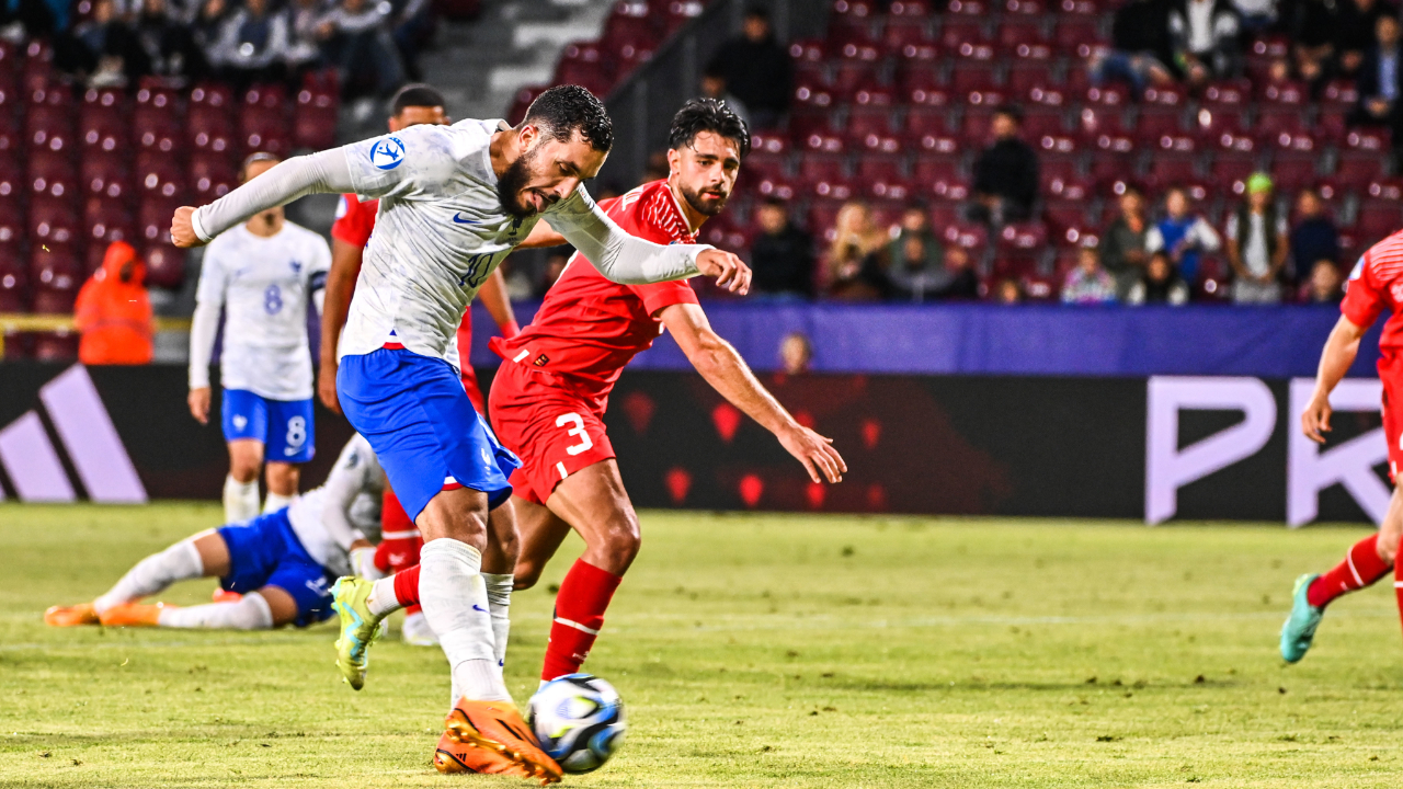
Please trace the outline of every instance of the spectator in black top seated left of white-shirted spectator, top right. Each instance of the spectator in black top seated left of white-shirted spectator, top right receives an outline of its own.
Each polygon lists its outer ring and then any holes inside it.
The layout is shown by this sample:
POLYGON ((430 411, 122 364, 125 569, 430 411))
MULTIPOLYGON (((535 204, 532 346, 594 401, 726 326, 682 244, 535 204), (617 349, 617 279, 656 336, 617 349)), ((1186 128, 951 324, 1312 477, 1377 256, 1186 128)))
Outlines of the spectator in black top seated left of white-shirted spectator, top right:
POLYGON ((1115 10, 1111 48, 1092 56, 1092 81, 1125 81, 1136 95, 1152 84, 1174 81, 1173 39, 1169 34, 1167 0, 1131 0, 1115 10))

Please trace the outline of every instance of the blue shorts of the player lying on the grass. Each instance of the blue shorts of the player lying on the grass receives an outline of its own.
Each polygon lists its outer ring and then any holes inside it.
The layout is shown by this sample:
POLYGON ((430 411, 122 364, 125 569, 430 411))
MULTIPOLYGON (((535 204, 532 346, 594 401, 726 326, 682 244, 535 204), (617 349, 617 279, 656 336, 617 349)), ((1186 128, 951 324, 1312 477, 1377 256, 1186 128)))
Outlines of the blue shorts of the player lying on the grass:
POLYGON ((229 574, 219 578, 220 588, 247 594, 278 587, 297 602, 299 628, 331 616, 335 578, 302 548, 286 508, 217 531, 229 546, 229 574))

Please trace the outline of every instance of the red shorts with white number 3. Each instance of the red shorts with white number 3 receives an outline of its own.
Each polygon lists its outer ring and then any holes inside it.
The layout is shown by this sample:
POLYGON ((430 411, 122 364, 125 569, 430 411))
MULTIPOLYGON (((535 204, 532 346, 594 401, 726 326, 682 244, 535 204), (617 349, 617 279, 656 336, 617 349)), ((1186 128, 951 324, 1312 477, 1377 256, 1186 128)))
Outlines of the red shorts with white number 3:
POLYGON ((502 362, 487 402, 497 439, 522 459, 511 483, 526 501, 546 504, 563 479, 615 456, 602 411, 556 375, 502 362))

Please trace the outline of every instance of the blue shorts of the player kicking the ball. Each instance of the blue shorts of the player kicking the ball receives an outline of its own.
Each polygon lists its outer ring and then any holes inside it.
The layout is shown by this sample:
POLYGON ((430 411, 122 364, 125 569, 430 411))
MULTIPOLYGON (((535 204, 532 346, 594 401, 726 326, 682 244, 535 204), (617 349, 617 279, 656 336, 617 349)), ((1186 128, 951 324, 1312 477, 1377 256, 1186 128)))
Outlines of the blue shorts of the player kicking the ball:
POLYGON ((398 348, 342 357, 337 393, 411 521, 450 484, 481 490, 491 508, 511 497, 506 479, 522 462, 497 441, 443 359, 398 348))

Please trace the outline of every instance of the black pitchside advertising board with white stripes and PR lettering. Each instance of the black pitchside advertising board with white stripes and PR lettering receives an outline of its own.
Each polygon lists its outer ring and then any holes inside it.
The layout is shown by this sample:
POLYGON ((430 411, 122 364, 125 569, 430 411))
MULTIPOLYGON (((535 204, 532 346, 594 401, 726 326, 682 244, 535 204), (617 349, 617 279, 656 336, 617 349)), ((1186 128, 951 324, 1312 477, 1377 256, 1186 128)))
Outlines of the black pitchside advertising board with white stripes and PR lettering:
MULTIPOLYGON (((480 375, 490 385, 492 371, 480 375)), ((767 431, 700 376, 627 372, 606 421, 634 503, 1299 525, 1378 519, 1388 501, 1371 379, 1341 386, 1324 449, 1296 428, 1309 394, 1303 379, 770 375, 765 382, 801 423, 835 439, 850 469, 842 484, 810 483, 767 431)), ((210 424, 199 425, 185 396, 180 366, 4 365, 0 490, 8 500, 63 500, 66 487, 72 498, 100 501, 217 498, 227 469, 219 397, 210 424), (98 397, 83 400, 84 380, 98 397), (101 441, 101 418, 84 409, 105 409, 115 449, 101 441), (58 458, 53 469, 62 466, 48 477, 34 462, 46 452, 58 458), (126 462, 122 452, 140 496, 123 498, 132 486, 107 479, 126 462), (49 479, 56 475, 67 479, 49 479)), ((351 435, 345 420, 320 404, 316 428, 317 456, 303 489, 324 479, 351 435)))

